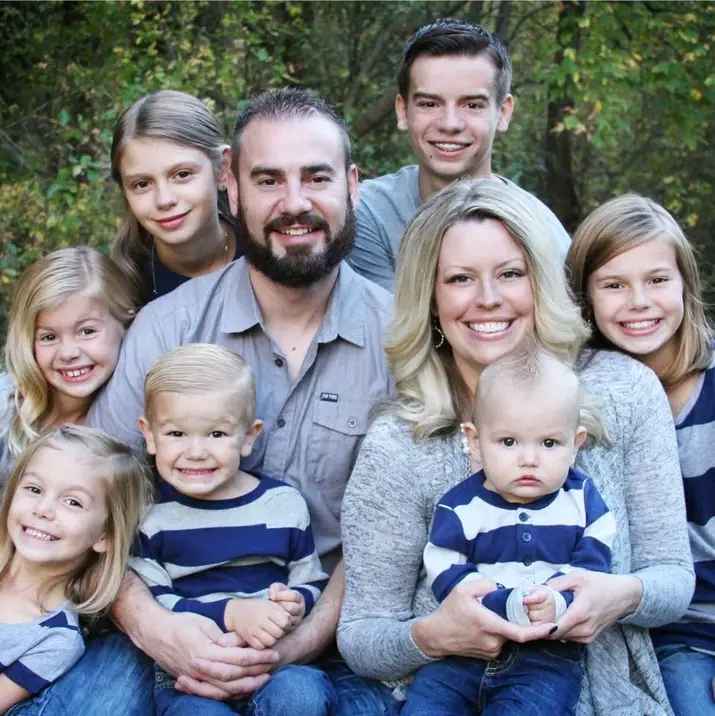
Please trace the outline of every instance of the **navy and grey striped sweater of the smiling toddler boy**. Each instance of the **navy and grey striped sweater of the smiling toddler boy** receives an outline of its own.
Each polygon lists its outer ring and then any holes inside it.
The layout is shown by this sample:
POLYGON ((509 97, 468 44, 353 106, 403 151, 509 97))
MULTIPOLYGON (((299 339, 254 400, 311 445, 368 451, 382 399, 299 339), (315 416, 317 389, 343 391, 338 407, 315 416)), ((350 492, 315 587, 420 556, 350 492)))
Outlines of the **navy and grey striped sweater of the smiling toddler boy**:
POLYGON ((197 500, 160 480, 135 554, 131 568, 161 604, 224 631, 230 599, 267 598, 270 584, 283 582, 303 595, 307 614, 327 581, 305 500, 269 477, 227 500, 197 500))

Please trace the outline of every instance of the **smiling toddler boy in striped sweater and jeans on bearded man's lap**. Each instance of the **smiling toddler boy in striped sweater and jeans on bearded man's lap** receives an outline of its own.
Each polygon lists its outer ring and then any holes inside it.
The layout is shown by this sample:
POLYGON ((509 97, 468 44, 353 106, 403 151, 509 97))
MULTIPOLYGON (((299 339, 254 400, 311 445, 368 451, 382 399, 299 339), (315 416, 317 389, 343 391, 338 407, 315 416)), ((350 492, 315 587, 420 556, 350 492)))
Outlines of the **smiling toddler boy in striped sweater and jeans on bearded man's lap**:
MULTIPOLYGON (((327 575, 300 493, 240 468, 261 430, 251 371, 225 348, 189 344, 154 364, 144 390, 139 427, 156 461, 158 500, 131 567, 167 609, 270 648, 307 615, 327 575)), ((176 691, 157 667, 154 697, 158 714, 288 714, 298 699, 322 716, 334 694, 319 669, 286 666, 250 701, 212 701, 176 691)))

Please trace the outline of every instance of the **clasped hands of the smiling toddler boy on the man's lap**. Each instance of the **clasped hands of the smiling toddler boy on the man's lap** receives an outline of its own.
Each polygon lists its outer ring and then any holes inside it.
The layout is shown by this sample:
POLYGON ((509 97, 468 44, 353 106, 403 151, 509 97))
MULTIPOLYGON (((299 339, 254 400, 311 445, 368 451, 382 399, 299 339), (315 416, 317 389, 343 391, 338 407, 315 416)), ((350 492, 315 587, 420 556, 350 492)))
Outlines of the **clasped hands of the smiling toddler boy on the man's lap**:
POLYGON ((272 647, 293 628, 291 615, 269 599, 231 599, 224 622, 229 631, 254 649, 272 647))

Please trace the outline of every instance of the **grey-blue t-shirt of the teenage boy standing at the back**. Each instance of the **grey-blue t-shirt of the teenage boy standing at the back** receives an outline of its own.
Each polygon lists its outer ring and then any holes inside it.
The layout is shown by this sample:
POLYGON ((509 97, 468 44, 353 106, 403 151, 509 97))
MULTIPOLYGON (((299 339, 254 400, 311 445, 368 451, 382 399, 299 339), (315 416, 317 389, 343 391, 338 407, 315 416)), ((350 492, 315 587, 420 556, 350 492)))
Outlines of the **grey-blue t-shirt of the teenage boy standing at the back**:
MULTIPOLYGON (((509 186, 519 188, 509 179, 499 178, 509 186)), ((528 191, 521 191, 531 202, 534 213, 551 231, 554 245, 565 257, 571 239, 561 222, 546 204, 528 191)), ((362 182, 356 211, 357 236, 348 263, 365 278, 393 291, 400 242, 421 205, 419 167, 416 164, 402 167, 394 174, 362 182)))

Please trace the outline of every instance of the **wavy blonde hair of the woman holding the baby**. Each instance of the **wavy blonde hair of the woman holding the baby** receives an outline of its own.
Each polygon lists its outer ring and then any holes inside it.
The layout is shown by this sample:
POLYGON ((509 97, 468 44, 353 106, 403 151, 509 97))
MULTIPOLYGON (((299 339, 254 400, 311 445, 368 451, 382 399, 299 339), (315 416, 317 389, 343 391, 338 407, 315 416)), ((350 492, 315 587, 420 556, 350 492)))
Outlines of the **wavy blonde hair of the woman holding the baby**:
MULTIPOLYGON (((536 338, 547 350, 572 363, 589 336, 566 284, 558 247, 532 203, 522 189, 495 177, 462 180, 426 202, 407 228, 385 346, 397 386, 397 399, 387 410, 411 423, 417 438, 452 432, 470 412, 472 396, 449 345, 437 350, 432 328, 442 239, 455 224, 496 219, 522 249, 534 294, 536 338)), ((474 240, 479 240, 478 225, 474 240)))

